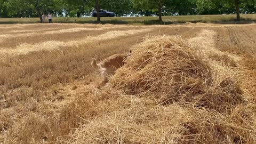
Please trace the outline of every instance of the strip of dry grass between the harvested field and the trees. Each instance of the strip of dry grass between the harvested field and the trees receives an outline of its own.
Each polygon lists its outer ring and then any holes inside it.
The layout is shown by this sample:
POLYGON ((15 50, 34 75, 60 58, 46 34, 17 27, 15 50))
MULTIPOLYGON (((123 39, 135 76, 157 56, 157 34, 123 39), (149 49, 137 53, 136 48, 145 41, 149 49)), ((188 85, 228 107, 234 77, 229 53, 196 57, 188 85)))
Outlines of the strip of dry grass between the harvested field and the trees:
MULTIPOLYGON (((47 19, 46 19, 47 20, 47 19)), ((68 18, 53 17, 54 23, 98 23, 97 18, 68 18)), ((171 25, 182 24, 186 22, 202 23, 220 23, 220 24, 244 24, 255 23, 256 14, 241 14, 241 20, 236 21, 235 14, 225 15, 180 15, 180 16, 163 16, 163 22, 158 21, 158 17, 115 17, 101 18, 101 24, 116 25, 171 25)), ((0 24, 16 23, 40 23, 39 18, 0 18, 0 24)))

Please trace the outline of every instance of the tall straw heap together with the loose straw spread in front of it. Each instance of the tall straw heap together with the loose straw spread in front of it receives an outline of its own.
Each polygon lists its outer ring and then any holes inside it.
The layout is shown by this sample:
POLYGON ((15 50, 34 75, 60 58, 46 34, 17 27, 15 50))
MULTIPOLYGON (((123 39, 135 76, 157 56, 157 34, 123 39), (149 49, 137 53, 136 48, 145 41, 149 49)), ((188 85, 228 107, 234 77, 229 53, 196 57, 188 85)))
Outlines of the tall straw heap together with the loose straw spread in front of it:
POLYGON ((85 119, 68 142, 256 143, 256 105, 229 67, 197 48, 147 37, 109 85, 77 98, 85 119))

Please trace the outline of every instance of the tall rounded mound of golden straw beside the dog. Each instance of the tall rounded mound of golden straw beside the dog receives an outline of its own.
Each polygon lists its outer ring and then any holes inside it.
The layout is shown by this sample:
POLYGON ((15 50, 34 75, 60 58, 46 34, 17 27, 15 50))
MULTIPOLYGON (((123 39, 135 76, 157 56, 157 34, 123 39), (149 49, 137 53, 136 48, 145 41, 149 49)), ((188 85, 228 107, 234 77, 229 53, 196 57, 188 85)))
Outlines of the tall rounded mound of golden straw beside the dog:
POLYGON ((213 74, 212 62, 180 37, 148 37, 134 47, 126 62, 111 79, 126 94, 153 98, 163 105, 189 103, 220 113, 243 102, 239 86, 230 77, 218 79, 222 77, 213 74))

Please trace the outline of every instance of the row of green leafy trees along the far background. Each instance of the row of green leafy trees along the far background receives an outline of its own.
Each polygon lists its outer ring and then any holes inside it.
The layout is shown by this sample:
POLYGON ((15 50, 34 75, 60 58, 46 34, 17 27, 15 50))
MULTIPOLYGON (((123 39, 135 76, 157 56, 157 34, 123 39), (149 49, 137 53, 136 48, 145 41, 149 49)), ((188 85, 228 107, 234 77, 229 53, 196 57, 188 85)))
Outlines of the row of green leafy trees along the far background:
MULTIPOLYGON (((39 17, 51 12, 66 17, 90 15, 93 10, 124 15, 196 15, 256 12, 256 0, 0 0, 0 18, 39 17)), ((99 15, 99 14, 97 14, 99 15)), ((100 21, 100 17, 97 19, 100 21)))

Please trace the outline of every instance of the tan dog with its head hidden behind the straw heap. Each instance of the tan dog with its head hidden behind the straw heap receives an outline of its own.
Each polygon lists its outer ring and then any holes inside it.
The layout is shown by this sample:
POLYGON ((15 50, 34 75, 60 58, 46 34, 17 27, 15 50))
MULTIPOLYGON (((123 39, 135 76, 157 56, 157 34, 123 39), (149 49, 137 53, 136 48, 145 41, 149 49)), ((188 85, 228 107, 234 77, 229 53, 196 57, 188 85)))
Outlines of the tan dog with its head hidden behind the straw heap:
POLYGON ((96 60, 93 59, 91 62, 91 66, 94 70, 98 71, 103 78, 103 81, 98 87, 104 86, 108 82, 109 77, 115 74, 116 69, 124 65, 124 60, 130 55, 131 53, 114 54, 99 63, 97 63, 96 60))

